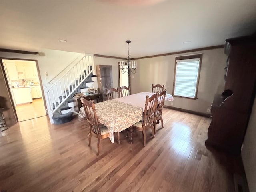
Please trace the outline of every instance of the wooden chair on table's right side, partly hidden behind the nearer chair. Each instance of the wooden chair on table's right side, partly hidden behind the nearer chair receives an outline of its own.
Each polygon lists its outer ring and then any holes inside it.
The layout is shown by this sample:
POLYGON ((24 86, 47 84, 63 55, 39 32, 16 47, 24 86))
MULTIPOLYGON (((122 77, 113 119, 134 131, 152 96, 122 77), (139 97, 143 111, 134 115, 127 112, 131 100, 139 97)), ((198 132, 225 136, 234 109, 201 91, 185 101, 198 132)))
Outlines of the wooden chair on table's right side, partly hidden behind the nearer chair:
POLYGON ((165 96, 166 96, 166 90, 162 91, 159 94, 158 97, 158 104, 156 106, 156 113, 155 113, 155 117, 154 117, 154 130, 155 130, 155 134, 156 134, 156 124, 159 123, 159 120, 161 120, 161 124, 162 124, 162 128, 164 128, 164 121, 162 118, 162 111, 164 108, 164 100, 165 100, 165 96), (157 121, 157 123, 156 123, 157 121))

